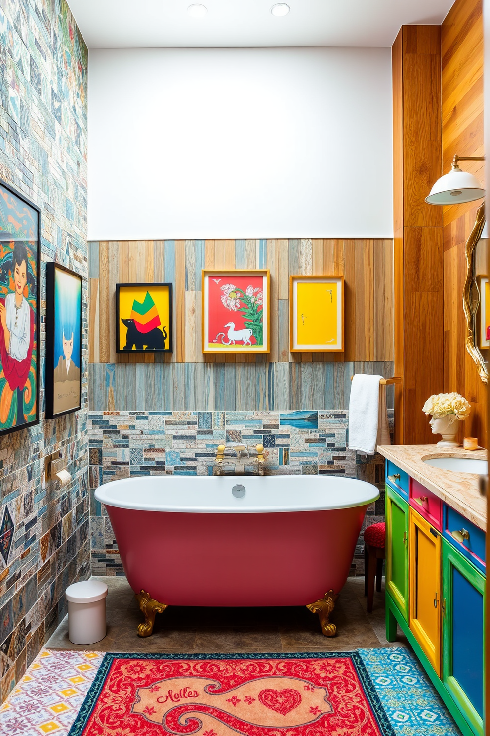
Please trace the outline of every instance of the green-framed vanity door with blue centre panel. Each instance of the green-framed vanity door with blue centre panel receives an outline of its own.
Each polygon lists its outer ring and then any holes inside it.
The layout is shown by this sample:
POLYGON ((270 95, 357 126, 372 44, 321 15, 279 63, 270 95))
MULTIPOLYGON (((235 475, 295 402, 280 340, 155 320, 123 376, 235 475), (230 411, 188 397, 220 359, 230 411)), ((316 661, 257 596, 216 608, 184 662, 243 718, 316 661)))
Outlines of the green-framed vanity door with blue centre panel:
POLYGON ((442 682, 472 731, 483 736, 485 578, 442 540, 442 682))

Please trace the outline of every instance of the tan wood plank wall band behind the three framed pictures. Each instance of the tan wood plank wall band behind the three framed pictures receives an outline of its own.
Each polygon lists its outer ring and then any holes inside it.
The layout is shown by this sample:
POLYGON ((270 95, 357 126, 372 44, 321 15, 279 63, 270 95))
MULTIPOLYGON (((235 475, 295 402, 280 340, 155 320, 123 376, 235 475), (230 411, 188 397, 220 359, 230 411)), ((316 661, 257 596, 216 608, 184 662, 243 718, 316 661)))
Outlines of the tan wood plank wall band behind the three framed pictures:
POLYGON ((90 363, 393 360, 392 240, 138 241, 91 244, 90 363), (269 355, 201 353, 201 269, 269 268, 269 355), (345 275, 345 353, 289 353, 289 275, 345 275), (115 353, 115 284, 174 285, 172 355, 115 353))

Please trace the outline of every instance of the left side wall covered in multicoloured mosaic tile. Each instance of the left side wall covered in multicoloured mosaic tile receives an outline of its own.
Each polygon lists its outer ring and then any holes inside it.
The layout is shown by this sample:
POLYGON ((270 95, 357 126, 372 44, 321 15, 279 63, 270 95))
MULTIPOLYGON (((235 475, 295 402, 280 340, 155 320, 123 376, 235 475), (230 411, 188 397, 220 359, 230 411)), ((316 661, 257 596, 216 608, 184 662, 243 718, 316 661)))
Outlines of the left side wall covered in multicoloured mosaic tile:
POLYGON ((40 424, 0 438, 0 700, 90 575, 86 349, 82 411, 44 419, 47 261, 84 275, 87 330, 86 70, 64 0, 0 0, 0 178, 41 210, 40 424), (62 490, 43 482, 54 450, 73 478, 62 490))

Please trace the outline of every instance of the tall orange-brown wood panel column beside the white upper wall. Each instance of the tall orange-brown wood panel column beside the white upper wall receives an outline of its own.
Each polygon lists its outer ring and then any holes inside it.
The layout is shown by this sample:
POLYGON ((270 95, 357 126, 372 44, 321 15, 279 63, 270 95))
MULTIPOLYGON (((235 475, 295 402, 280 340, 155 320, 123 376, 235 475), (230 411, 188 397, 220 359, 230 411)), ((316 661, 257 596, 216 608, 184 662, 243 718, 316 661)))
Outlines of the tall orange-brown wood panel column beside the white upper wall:
POLYGON ((394 442, 433 442, 422 406, 444 390, 442 208, 425 204, 442 174, 441 29, 402 26, 392 47, 394 442))

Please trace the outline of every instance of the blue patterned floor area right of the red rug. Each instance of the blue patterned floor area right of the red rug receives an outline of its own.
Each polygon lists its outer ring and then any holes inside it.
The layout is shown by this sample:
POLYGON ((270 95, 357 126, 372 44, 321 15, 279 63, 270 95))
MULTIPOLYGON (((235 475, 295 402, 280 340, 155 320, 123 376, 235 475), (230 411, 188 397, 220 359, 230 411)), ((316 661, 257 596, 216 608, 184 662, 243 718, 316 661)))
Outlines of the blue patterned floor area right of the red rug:
POLYGON ((359 653, 397 736, 461 736, 408 649, 359 649, 359 653))

